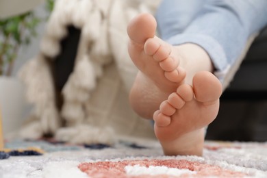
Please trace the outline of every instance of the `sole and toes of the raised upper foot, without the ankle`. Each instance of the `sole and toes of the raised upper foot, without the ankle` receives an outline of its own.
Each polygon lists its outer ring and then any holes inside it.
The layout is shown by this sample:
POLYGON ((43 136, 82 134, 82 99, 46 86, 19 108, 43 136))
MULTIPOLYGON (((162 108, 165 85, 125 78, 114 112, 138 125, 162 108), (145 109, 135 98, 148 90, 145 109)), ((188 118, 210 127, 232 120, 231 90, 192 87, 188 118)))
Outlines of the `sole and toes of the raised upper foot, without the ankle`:
POLYGON ((179 54, 155 37, 156 22, 142 14, 129 24, 129 55, 140 72, 131 88, 130 103, 140 116, 152 118, 160 103, 182 84, 186 71, 179 67, 179 54))

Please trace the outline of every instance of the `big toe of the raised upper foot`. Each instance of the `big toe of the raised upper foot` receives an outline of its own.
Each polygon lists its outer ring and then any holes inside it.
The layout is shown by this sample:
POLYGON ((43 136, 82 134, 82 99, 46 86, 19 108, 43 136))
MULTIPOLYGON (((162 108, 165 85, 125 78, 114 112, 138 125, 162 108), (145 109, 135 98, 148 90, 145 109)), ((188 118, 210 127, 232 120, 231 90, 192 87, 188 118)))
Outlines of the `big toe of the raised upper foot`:
POLYGON ((140 14, 133 18, 127 27, 129 38, 134 42, 144 43, 155 36, 157 23, 151 14, 140 14))

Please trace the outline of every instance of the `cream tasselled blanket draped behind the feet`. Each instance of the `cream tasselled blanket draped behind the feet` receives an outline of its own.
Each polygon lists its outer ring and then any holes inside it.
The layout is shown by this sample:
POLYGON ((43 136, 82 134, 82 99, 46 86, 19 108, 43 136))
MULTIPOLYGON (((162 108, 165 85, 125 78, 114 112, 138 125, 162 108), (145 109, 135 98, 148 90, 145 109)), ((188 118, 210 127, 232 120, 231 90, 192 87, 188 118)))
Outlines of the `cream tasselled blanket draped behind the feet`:
POLYGON ((126 28, 133 16, 153 13, 158 3, 55 1, 40 51, 20 72, 34 109, 18 136, 34 139, 54 133, 58 140, 88 144, 110 144, 117 135, 153 137, 151 124, 135 114, 128 103, 137 69, 127 53, 126 28), (81 29, 81 37, 73 72, 62 89, 62 110, 58 110, 49 63, 60 53, 68 25, 81 29))

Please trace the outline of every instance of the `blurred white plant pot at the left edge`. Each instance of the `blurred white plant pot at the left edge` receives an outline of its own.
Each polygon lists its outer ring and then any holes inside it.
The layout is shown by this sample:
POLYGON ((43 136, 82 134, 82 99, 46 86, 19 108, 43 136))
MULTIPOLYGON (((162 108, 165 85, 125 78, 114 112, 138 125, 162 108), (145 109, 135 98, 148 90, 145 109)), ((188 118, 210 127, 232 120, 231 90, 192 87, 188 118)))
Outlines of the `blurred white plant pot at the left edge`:
POLYGON ((6 137, 21 128, 29 111, 23 84, 15 77, 0 77, 0 110, 6 137))

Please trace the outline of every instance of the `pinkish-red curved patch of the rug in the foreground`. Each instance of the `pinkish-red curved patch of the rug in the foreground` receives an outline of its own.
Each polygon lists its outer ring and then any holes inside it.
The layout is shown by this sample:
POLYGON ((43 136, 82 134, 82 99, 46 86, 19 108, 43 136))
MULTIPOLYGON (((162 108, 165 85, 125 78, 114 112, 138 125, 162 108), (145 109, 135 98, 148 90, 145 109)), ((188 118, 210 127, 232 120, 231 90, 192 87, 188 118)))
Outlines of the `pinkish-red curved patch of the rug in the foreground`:
POLYGON ((78 168, 90 177, 245 177, 241 172, 227 170, 219 166, 202 164, 200 162, 190 162, 188 160, 124 160, 124 161, 106 161, 106 162, 88 162, 79 164, 78 168), (172 175, 127 175, 125 166, 166 166, 168 168, 187 169, 194 171, 195 174, 172 175))

